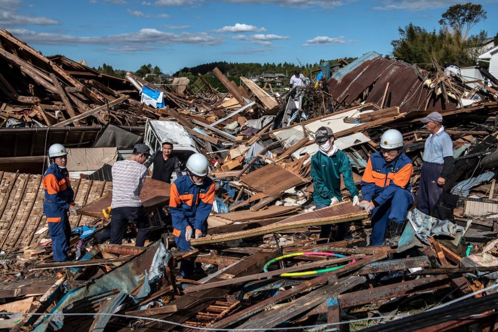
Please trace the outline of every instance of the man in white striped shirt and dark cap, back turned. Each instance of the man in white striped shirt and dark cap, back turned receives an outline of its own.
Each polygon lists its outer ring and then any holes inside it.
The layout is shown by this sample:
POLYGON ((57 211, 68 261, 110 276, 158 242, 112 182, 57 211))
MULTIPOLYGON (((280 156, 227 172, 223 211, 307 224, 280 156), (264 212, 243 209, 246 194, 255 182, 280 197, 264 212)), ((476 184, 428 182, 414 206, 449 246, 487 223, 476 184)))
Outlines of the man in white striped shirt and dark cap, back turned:
POLYGON ((111 240, 109 243, 121 244, 128 221, 138 229, 135 245, 142 247, 148 232, 147 215, 140 201, 147 168, 143 163, 150 156, 145 144, 135 144, 133 154, 127 160, 117 161, 113 166, 113 200, 111 203, 111 240))

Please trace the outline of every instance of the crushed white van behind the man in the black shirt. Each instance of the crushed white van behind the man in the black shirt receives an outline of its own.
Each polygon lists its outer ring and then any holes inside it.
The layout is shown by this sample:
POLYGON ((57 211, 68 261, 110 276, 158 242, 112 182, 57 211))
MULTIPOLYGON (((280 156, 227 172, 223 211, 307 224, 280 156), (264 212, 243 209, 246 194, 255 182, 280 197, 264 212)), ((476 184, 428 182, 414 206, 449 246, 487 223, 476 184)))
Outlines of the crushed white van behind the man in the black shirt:
MULTIPOLYGON (((194 153, 200 153, 189 132, 177 122, 147 120, 143 142, 150 148, 151 153, 161 150, 161 143, 166 137, 173 141, 173 154, 180 159, 182 169, 185 170, 188 158, 194 153)), ((153 169, 153 165, 150 165, 150 169, 153 169)), ((183 171, 183 174, 186 172, 183 171)), ((173 172, 171 182, 175 180, 176 174, 173 172)))

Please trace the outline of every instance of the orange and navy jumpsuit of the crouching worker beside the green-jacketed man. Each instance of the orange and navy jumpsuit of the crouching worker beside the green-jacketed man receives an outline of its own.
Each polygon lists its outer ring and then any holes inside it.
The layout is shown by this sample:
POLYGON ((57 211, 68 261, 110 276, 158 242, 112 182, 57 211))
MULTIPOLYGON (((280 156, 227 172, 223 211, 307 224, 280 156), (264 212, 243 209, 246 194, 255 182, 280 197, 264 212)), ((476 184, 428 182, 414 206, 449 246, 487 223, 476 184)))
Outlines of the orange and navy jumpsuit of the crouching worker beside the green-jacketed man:
POLYGON ((412 173, 413 164, 404 153, 390 163, 381 152, 370 156, 362 178, 362 198, 374 206, 371 245, 383 243, 389 221, 405 221, 414 202, 410 184, 412 173))

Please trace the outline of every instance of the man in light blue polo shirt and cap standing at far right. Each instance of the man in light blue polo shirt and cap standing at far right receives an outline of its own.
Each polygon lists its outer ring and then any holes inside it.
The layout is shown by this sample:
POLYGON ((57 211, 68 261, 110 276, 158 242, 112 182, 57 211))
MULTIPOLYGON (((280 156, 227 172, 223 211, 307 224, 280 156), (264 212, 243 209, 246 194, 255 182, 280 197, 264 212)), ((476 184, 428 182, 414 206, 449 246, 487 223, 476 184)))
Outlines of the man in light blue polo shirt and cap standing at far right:
POLYGON ((439 196, 443 193, 443 185, 453 168, 453 142, 444 131, 443 116, 432 112, 421 120, 430 131, 425 141, 420 184, 417 191, 417 209, 430 215, 439 196))

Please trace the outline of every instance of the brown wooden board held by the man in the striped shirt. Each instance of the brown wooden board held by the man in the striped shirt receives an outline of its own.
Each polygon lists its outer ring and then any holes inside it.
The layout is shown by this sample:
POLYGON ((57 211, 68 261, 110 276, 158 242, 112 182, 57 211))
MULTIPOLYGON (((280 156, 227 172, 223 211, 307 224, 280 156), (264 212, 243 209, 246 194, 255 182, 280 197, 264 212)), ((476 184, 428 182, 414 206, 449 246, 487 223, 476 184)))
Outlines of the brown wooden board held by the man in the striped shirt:
MULTIPOLYGON (((145 179, 142 191, 140 192, 140 200, 145 209, 150 209, 157 207, 159 205, 164 205, 169 202, 169 190, 171 185, 158 180, 153 180, 150 178, 145 179)), ((78 210, 78 215, 89 216, 95 218, 104 218, 102 210, 111 206, 113 195, 109 195, 97 200, 91 204, 88 204, 78 210)))

